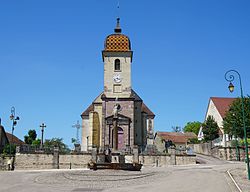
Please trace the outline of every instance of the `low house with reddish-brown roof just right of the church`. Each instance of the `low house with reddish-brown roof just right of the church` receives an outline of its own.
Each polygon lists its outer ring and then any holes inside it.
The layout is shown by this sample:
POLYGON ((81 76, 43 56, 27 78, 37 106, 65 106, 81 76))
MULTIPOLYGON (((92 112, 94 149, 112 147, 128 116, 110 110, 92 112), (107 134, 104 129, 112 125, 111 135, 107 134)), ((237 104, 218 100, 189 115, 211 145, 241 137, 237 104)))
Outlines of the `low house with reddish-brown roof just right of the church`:
POLYGON ((165 152, 165 141, 171 141, 176 149, 186 150, 189 139, 197 138, 195 133, 187 132, 156 132, 154 137, 154 144, 159 152, 165 152))

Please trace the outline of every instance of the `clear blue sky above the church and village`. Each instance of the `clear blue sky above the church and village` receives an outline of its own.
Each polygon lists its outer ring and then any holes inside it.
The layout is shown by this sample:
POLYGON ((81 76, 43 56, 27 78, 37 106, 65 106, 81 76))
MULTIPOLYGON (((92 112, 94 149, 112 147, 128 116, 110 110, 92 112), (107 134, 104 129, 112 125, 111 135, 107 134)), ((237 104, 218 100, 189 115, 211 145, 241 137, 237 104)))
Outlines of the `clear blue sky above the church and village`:
POLYGON ((72 127, 103 90, 104 40, 116 18, 132 44, 132 87, 155 113, 155 131, 203 122, 210 97, 237 70, 250 94, 248 0, 0 0, 0 118, 14 134, 45 123, 44 138, 72 147, 72 127))

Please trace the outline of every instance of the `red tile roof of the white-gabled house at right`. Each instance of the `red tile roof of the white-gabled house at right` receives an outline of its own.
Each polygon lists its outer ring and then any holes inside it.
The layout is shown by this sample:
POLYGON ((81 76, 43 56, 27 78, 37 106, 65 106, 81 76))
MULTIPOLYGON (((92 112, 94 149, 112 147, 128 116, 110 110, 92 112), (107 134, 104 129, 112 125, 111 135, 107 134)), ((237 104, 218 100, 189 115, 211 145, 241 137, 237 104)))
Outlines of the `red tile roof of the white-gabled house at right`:
POLYGON ((225 97, 210 97, 210 99, 213 101, 215 107, 217 108, 222 118, 225 117, 230 105, 233 103, 233 101, 236 100, 236 98, 225 97))

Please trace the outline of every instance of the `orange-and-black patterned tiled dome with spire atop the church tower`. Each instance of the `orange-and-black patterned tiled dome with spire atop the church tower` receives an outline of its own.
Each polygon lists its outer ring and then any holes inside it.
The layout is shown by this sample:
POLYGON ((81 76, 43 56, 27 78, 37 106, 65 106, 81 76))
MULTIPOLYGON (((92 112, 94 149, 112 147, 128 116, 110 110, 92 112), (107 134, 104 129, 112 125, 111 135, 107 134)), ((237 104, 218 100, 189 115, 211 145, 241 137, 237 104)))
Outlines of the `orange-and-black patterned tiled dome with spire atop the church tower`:
POLYGON ((120 18, 117 18, 117 25, 114 31, 114 34, 109 35, 105 39, 104 51, 131 51, 131 44, 129 38, 126 35, 121 34, 122 30, 120 28, 120 18))

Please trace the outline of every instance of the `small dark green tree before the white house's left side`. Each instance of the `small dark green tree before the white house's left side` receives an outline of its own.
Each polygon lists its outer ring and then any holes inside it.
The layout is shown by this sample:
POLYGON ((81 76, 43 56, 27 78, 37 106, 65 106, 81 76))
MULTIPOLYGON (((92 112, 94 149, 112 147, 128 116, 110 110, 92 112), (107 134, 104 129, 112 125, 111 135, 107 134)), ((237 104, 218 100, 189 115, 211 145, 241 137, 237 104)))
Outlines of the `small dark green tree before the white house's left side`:
POLYGON ((213 116, 207 117, 207 120, 202 124, 202 131, 205 141, 212 141, 219 137, 219 126, 213 116))

